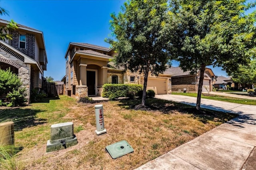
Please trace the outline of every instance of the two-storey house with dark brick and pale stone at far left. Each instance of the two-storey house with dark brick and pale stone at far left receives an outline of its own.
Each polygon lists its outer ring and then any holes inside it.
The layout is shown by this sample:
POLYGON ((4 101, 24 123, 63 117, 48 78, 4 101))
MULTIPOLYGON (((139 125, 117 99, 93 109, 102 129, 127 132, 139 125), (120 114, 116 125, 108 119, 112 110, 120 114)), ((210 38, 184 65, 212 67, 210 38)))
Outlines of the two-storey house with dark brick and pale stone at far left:
MULTIPOLYGON (((0 19, 4 26, 8 21, 0 19)), ((40 90, 44 70, 47 66, 47 55, 42 31, 17 24, 18 29, 10 31, 12 40, 0 40, 0 69, 10 68, 22 81, 26 89, 26 98, 30 102, 30 91, 40 90)))

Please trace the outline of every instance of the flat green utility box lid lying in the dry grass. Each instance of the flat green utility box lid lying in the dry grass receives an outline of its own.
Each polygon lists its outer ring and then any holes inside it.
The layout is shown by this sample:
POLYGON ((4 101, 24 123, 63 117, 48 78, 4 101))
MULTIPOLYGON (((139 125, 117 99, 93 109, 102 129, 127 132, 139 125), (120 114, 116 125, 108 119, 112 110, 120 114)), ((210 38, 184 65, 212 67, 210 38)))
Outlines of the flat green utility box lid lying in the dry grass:
POLYGON ((133 152, 133 148, 127 143, 127 141, 120 141, 112 145, 108 145, 106 150, 113 159, 133 152))

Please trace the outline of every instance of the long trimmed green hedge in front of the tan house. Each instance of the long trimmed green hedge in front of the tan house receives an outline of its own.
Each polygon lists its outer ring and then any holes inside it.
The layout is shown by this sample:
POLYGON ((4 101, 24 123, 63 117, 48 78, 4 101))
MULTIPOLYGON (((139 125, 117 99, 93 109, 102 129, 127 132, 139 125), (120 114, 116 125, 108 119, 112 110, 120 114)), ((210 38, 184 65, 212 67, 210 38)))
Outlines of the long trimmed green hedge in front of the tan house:
POLYGON ((114 100, 119 97, 131 97, 131 94, 138 94, 143 86, 140 84, 104 84, 102 87, 102 97, 114 100))

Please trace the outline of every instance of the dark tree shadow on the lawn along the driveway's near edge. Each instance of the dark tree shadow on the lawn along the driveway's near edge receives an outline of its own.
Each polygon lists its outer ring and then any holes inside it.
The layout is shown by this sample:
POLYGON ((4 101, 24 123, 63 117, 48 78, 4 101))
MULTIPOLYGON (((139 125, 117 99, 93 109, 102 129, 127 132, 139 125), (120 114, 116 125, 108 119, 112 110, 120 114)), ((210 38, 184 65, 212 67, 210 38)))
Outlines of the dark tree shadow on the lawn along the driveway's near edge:
MULTIPOLYGON (((141 100, 120 100, 120 104, 118 106, 126 108, 126 109, 134 109, 137 105, 141 104, 141 100)), ((237 117, 237 114, 228 113, 223 111, 216 111, 211 109, 201 108, 199 111, 195 106, 191 106, 188 104, 176 103, 168 100, 161 99, 146 99, 146 107, 151 111, 160 111, 163 114, 173 114, 176 111, 182 114, 192 114, 194 119, 199 118, 202 123, 207 123, 208 121, 221 121, 227 122, 231 119, 237 117)))

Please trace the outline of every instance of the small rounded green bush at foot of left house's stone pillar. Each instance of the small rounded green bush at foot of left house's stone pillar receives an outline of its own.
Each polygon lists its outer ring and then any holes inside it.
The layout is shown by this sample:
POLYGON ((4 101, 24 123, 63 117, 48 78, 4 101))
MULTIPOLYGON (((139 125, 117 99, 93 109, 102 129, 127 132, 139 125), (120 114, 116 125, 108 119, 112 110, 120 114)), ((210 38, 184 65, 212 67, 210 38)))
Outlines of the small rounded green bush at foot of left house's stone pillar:
POLYGON ((7 98, 10 100, 10 104, 8 104, 9 107, 15 107, 15 106, 24 106, 26 103, 26 93, 24 88, 19 88, 18 90, 13 90, 12 92, 9 92, 7 94, 7 98))

